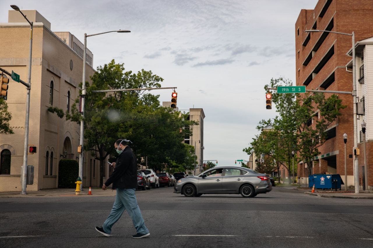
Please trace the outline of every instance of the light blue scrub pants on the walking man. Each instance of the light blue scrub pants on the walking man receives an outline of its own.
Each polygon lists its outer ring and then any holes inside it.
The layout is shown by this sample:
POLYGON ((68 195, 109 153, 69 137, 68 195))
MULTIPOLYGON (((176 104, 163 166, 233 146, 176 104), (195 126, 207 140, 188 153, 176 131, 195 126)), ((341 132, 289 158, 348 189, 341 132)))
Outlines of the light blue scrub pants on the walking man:
POLYGON ((127 210, 132 222, 134 223, 137 233, 149 233, 149 230, 145 226, 144 219, 142 218, 140 208, 137 204, 135 189, 117 188, 116 191, 112 211, 102 226, 104 232, 110 234, 112 232, 112 226, 119 220, 123 212, 127 210))

